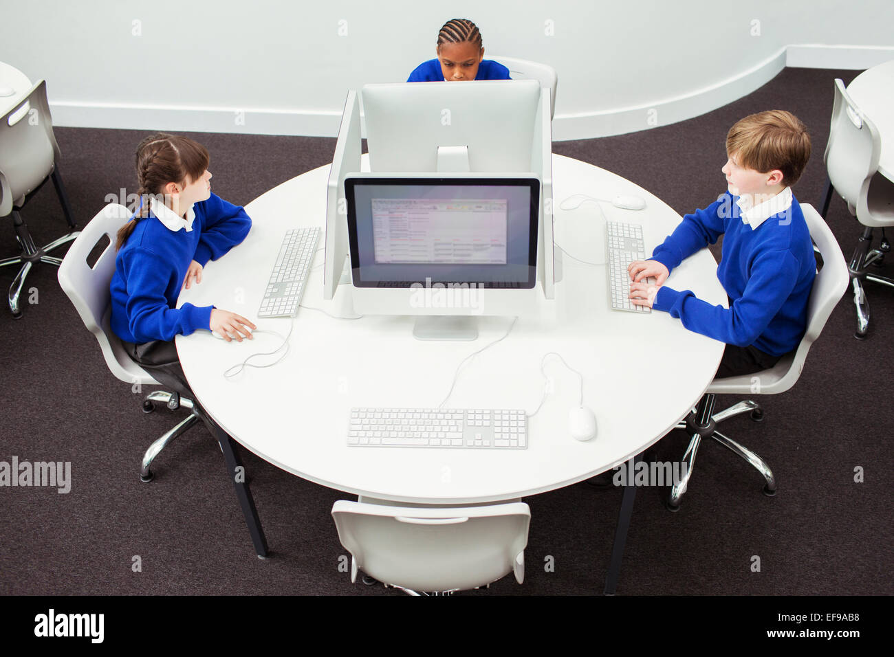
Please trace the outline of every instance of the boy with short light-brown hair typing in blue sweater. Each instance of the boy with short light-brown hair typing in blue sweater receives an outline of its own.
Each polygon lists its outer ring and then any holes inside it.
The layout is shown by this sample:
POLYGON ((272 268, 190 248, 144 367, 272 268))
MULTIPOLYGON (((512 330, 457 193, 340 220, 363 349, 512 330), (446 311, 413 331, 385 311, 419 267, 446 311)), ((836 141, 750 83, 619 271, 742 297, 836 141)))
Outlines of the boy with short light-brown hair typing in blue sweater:
POLYGON ((807 323, 816 261, 791 186, 810 158, 810 136, 794 114, 771 110, 738 121, 727 134, 729 189, 686 215, 652 258, 628 266, 637 306, 679 317, 690 331, 726 342, 717 377, 774 366, 797 349, 807 323), (723 235, 717 278, 730 307, 664 285, 674 267, 723 235), (654 277, 654 283, 644 279, 654 277))

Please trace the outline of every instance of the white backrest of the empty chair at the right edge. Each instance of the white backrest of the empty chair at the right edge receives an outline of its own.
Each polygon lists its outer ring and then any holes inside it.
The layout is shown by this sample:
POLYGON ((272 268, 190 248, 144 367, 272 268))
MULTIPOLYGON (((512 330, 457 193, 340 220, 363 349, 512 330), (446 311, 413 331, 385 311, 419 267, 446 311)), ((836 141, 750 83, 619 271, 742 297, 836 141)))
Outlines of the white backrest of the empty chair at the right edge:
POLYGON ((835 80, 829 141, 822 161, 832 187, 848 203, 851 213, 856 213, 861 194, 879 168, 880 153, 881 140, 875 124, 848 96, 844 82, 835 80))

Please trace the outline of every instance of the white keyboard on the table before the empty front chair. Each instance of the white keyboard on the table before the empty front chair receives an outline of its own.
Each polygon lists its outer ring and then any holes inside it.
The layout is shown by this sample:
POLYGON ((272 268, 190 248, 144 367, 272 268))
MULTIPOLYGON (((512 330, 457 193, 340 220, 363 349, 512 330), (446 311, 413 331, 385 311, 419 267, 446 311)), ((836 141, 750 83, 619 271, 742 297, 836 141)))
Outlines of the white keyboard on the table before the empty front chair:
POLYGON ((348 444, 524 450, 527 417, 518 409, 350 409, 348 444))

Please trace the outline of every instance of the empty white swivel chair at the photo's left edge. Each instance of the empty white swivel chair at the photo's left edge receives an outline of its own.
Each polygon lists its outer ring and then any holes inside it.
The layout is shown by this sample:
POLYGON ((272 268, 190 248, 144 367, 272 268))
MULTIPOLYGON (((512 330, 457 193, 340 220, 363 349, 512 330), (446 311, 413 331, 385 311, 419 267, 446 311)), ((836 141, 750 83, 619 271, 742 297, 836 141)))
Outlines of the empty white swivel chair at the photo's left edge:
POLYGON ((9 289, 9 307, 13 317, 21 317, 19 298, 25 278, 38 262, 59 266, 62 260, 46 254, 78 237, 72 208, 59 173, 59 145, 53 134, 53 119, 46 103, 46 81, 40 80, 13 109, 0 119, 0 217, 13 215, 15 239, 21 255, 0 260, 0 267, 20 265, 19 274, 9 289), (21 206, 53 180, 65 221, 71 229, 66 235, 37 248, 28 226, 19 214, 21 206))

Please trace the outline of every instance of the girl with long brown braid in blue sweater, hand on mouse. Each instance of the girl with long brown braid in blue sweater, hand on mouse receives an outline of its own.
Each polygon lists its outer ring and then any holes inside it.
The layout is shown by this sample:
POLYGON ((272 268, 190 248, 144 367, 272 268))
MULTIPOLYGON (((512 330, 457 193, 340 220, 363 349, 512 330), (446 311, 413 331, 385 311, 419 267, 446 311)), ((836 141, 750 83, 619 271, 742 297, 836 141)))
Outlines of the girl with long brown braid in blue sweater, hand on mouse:
POLYGON ((159 133, 137 147, 139 207, 118 232, 112 276, 112 331, 159 383, 190 394, 175 335, 213 330, 226 341, 251 338, 255 324, 213 306, 177 306, 181 288, 202 282, 208 260, 249 234, 251 219, 211 193, 207 149, 159 133))

